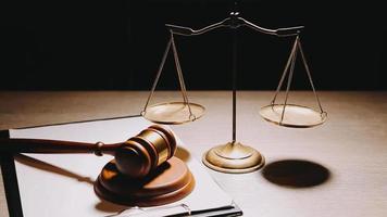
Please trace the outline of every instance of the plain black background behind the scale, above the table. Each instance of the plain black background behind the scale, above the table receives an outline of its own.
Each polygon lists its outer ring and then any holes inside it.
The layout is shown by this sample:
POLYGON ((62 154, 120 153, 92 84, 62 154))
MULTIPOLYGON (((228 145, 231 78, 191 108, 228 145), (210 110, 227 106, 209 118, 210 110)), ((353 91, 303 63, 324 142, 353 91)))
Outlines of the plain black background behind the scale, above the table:
MULTIPOLYGON (((382 1, 239 2, 266 28, 303 25, 301 41, 317 89, 387 89, 387 12, 382 1)), ((164 52, 165 23, 195 29, 228 16, 233 1, 10 1, 0 5, 0 89, 149 90, 164 52)), ((217 29, 176 36, 187 89, 230 89, 232 37, 217 29)), ((276 88, 294 38, 238 29, 238 89, 276 88)), ((159 89, 175 89, 168 56, 159 89)), ((294 89, 309 89, 296 65, 294 89)))

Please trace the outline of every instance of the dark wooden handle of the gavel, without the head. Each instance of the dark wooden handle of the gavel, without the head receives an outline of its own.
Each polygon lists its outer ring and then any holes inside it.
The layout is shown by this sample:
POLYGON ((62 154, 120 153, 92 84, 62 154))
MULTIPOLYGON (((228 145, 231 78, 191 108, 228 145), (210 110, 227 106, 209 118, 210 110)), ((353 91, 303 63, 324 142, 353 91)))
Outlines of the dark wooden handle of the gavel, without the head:
POLYGON ((112 154, 123 143, 103 144, 45 139, 0 139, 0 153, 101 153, 112 154))

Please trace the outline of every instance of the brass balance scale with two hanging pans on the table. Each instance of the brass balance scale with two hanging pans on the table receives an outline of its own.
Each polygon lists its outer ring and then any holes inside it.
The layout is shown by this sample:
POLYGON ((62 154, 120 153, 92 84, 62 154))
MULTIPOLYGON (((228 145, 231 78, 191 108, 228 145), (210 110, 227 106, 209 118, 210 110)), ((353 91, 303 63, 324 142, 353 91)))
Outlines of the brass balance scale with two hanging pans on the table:
POLYGON ((261 107, 259 111, 260 115, 267 122, 274 123, 283 127, 292 128, 309 128, 323 124, 326 120, 327 113, 323 110, 320 102, 319 95, 315 91, 310 68, 308 66, 300 40, 300 33, 303 26, 289 27, 289 28, 278 28, 278 29, 267 29, 254 25, 245 18, 239 16, 238 12, 232 12, 229 17, 223 20, 222 22, 209 25, 204 28, 194 30, 188 27, 168 25, 166 27, 170 30, 170 40, 167 42, 165 52, 163 54, 159 71, 157 73, 155 79, 153 81, 150 94, 146 102, 146 105, 141 112, 141 115, 153 123, 164 124, 164 125, 178 125, 189 122, 195 122, 204 114, 204 107, 200 104, 189 102, 187 90, 184 81, 184 76, 182 67, 178 61, 177 49, 175 44, 175 35, 179 36, 198 36, 209 33, 213 29, 220 27, 227 27, 233 29, 233 140, 222 145, 214 146, 203 154, 202 162, 205 166, 222 173, 240 174, 250 173, 261 168, 264 165, 263 155, 251 146, 245 145, 236 140, 236 76, 237 76, 237 28, 241 26, 247 26, 255 31, 272 35, 277 37, 295 37, 295 42, 290 51, 290 55, 285 65, 285 69, 280 77, 278 87, 275 91, 274 98, 271 103, 266 106, 261 107), (180 86, 180 92, 183 95, 183 101, 179 102, 164 102, 150 105, 153 98, 159 78, 163 71, 163 66, 167 54, 171 50, 173 51, 173 56, 175 61, 175 66, 177 71, 177 77, 180 86), (294 77, 295 63, 297 54, 300 53, 303 66, 307 71, 309 82, 314 93, 319 108, 312 108, 309 106, 303 106, 300 104, 289 104, 288 97, 291 80, 294 77), (287 85, 285 90, 285 100, 282 103, 277 102, 278 93, 282 91, 284 81, 287 77, 287 85))

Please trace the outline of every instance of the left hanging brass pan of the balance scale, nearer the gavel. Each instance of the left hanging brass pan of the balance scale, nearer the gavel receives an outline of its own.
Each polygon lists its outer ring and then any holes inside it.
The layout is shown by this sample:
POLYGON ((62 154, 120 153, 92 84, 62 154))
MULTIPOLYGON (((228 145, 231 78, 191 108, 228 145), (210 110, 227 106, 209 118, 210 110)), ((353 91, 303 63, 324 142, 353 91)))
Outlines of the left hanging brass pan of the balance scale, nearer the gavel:
POLYGON ((167 102, 147 107, 142 116, 157 124, 178 125, 199 119, 203 116, 204 110, 202 105, 196 103, 167 102))

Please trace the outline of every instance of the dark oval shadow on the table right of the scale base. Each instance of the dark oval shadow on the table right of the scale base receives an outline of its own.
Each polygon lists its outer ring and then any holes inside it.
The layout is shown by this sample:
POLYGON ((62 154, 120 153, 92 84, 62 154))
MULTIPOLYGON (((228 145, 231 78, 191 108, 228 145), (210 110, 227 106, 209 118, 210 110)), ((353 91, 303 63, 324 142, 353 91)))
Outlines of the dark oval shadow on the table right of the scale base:
POLYGON ((323 184, 330 178, 329 170, 314 162, 283 159, 267 164, 263 177, 272 183, 288 188, 309 188, 323 184))

